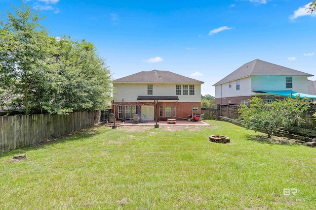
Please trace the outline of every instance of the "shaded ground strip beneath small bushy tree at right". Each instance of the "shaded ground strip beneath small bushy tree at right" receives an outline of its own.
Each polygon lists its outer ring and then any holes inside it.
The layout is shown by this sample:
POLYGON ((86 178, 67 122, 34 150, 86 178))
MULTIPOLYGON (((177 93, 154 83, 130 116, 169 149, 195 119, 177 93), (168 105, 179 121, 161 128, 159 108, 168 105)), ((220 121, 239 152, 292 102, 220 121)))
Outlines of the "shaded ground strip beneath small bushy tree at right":
POLYGON ((256 141, 262 144, 269 144, 269 145, 287 145, 287 146, 295 146, 295 145, 306 145, 306 142, 295 140, 295 139, 288 139, 285 137, 278 137, 272 136, 268 138, 267 136, 263 135, 247 135, 247 140, 256 141))

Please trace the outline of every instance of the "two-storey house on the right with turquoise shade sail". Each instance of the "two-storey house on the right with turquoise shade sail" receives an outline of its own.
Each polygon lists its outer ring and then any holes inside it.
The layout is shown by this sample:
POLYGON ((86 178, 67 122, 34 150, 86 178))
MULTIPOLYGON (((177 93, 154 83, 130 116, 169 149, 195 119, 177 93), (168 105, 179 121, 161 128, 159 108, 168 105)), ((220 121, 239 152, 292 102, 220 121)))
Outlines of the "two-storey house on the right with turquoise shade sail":
POLYGON ((253 96, 270 103, 292 93, 316 98, 314 75, 269 63, 253 60, 240 66, 215 86, 215 104, 248 104, 253 96))

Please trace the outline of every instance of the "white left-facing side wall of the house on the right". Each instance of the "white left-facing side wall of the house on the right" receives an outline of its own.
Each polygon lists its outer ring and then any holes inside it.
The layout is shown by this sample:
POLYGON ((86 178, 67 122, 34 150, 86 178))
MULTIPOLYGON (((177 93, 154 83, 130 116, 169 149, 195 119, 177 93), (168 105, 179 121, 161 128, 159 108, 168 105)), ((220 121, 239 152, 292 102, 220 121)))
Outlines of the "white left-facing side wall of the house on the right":
POLYGON ((236 80, 232 81, 232 87, 229 87, 229 82, 215 86, 215 98, 227 98, 251 95, 251 79, 246 77, 239 80, 239 90, 236 90, 236 80))

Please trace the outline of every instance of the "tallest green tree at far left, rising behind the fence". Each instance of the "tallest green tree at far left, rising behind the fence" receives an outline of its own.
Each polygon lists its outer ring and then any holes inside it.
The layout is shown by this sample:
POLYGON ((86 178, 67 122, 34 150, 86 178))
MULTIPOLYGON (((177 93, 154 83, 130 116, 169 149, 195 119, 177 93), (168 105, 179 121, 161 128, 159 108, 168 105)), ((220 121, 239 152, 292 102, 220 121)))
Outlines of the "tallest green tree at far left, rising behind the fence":
POLYGON ((24 106, 29 114, 33 90, 43 78, 48 35, 38 23, 38 12, 33 13, 23 2, 14 9, 15 14, 8 12, 0 28, 0 91, 10 93, 14 100, 9 101, 24 106))

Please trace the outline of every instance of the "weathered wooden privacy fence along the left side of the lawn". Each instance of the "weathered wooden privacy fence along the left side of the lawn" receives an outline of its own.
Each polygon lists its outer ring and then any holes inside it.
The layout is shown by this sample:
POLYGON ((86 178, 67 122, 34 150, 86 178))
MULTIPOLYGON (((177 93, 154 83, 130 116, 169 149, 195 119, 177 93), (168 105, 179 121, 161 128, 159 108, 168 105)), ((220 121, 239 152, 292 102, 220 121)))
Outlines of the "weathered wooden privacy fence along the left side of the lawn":
POLYGON ((0 117, 0 152, 36 144, 100 121, 101 111, 0 117))

